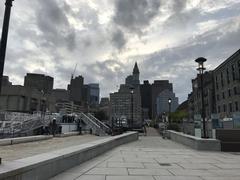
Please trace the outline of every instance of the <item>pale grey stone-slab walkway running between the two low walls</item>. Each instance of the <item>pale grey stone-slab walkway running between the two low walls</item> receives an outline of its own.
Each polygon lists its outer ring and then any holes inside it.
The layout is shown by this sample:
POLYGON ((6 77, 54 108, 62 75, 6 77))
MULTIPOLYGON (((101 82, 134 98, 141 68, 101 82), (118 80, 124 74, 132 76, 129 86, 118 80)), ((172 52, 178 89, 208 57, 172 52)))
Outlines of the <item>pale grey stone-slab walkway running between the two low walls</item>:
POLYGON ((206 152, 143 136, 51 180, 239 180, 240 154, 206 152))

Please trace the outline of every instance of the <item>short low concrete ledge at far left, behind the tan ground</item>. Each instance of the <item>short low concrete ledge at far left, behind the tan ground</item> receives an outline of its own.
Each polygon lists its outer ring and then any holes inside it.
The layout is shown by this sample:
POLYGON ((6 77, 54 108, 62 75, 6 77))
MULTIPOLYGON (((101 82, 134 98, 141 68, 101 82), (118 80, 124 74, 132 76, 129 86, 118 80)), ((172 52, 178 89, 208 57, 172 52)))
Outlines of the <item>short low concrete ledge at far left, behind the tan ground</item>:
POLYGON ((0 146, 33 142, 33 141, 42 141, 42 140, 51 139, 52 137, 53 137, 52 135, 39 135, 39 136, 26 136, 26 137, 18 137, 18 138, 0 139, 0 146))

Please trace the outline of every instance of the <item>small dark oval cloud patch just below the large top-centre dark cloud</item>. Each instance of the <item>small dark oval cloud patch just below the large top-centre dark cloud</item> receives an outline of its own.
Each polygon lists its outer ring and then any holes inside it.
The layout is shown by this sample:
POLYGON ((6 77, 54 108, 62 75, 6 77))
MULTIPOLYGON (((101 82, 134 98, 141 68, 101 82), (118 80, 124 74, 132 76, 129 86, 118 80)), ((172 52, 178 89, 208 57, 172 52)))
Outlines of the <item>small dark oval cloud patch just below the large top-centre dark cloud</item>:
POLYGON ((116 47, 118 50, 121 50, 126 45, 127 40, 125 38, 124 33, 121 30, 117 30, 116 32, 113 32, 112 35, 112 44, 114 47, 116 47))

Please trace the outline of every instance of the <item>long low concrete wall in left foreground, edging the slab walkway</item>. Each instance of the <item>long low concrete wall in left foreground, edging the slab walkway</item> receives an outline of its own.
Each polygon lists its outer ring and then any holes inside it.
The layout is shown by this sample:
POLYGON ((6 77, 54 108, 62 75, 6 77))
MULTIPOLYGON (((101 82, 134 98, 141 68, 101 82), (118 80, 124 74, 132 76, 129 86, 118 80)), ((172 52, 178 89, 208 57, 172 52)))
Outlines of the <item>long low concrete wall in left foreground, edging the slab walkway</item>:
POLYGON ((44 153, 0 165, 0 179, 46 180, 116 146, 138 139, 138 133, 118 136, 44 153))

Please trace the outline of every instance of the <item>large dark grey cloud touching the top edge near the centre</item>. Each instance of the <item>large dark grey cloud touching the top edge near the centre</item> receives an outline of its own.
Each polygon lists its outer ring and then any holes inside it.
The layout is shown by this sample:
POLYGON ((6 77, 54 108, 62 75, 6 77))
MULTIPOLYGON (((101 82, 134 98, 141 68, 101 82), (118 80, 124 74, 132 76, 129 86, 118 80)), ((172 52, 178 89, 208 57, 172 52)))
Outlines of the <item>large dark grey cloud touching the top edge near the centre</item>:
POLYGON ((119 26, 141 34, 159 13, 160 0, 116 0, 113 20, 119 26))

